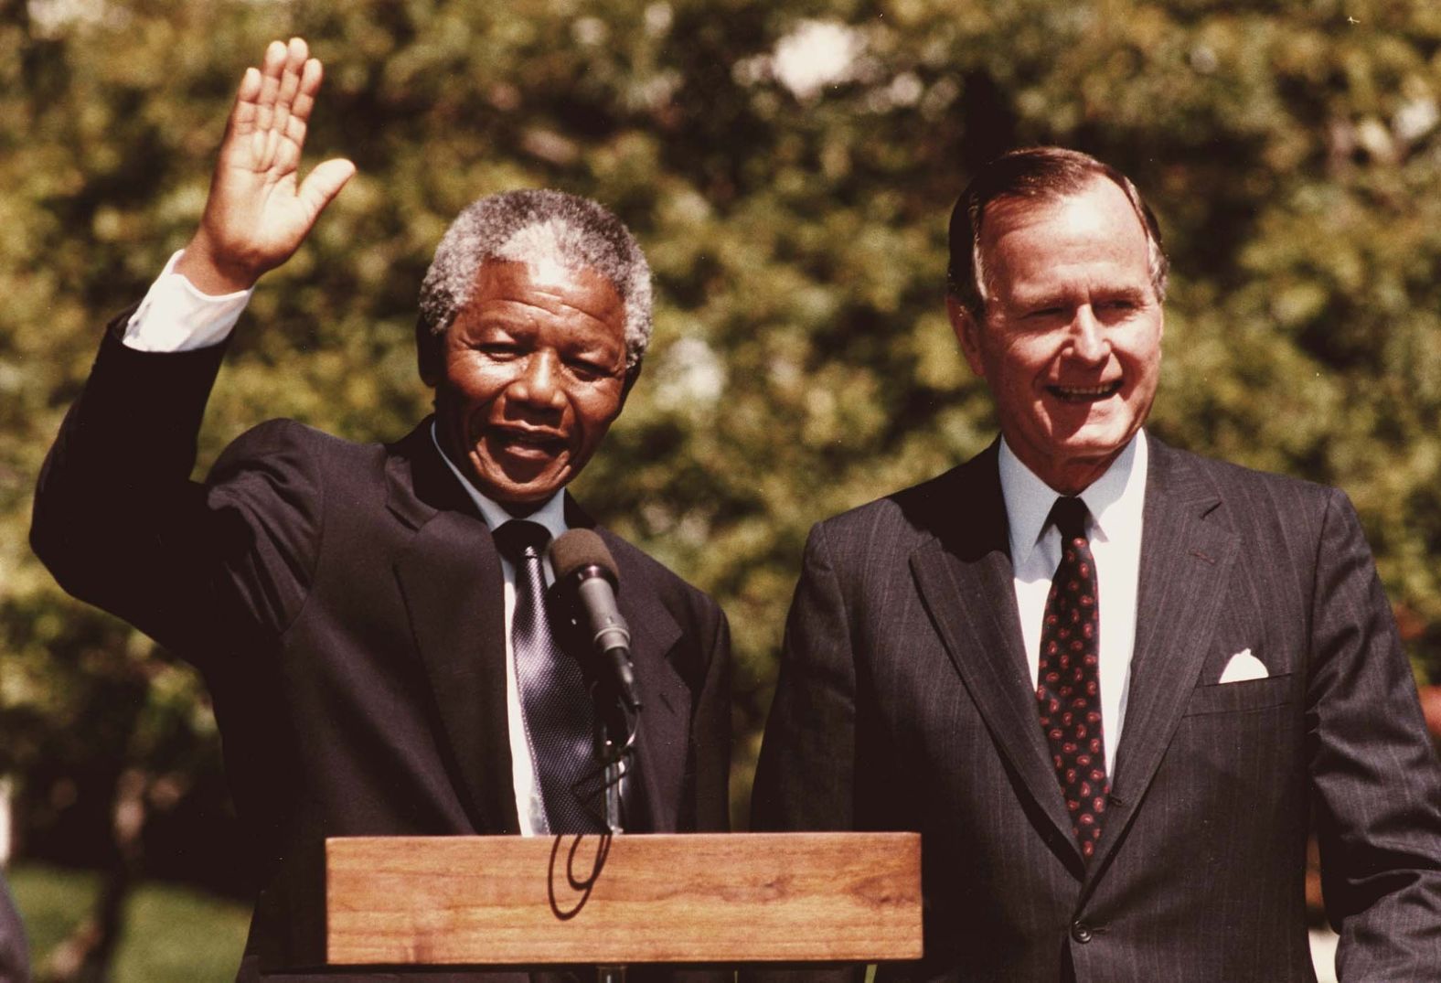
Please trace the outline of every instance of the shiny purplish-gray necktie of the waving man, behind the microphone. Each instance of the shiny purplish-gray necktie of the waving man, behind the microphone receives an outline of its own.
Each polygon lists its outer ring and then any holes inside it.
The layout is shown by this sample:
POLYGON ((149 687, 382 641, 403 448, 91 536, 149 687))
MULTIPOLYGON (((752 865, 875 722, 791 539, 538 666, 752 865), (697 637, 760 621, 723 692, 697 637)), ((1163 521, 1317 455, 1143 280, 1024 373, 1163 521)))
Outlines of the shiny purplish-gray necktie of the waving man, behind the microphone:
POLYGON ((516 566, 510 647, 516 659, 520 716, 545 801, 546 832, 601 832, 595 814, 575 793, 595 768, 594 711, 581 664, 561 650, 546 618, 540 556, 550 533, 539 523, 513 520, 494 535, 496 548, 516 566))

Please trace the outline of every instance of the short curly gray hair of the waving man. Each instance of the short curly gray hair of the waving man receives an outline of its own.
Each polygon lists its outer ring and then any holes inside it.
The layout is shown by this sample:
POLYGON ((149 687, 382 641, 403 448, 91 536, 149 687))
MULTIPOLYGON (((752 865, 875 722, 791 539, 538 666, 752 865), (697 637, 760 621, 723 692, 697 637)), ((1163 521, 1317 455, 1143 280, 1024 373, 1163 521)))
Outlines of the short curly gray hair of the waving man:
POLYGON ((650 267, 630 229, 607 208, 555 190, 500 192, 468 205, 445 231, 421 283, 422 346, 427 339, 438 344, 470 303, 487 259, 589 267, 601 274, 625 304, 625 376, 635 378, 650 344, 650 267))

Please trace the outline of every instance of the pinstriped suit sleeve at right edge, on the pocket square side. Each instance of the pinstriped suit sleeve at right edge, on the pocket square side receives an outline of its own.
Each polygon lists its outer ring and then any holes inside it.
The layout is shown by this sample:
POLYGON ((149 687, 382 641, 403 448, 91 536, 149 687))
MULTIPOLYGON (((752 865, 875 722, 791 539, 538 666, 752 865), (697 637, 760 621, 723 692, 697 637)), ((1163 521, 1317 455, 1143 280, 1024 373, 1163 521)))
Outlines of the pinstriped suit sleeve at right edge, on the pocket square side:
POLYGON ((1441 768, 1356 513, 1334 492, 1313 597, 1307 738, 1343 980, 1441 967, 1441 768))

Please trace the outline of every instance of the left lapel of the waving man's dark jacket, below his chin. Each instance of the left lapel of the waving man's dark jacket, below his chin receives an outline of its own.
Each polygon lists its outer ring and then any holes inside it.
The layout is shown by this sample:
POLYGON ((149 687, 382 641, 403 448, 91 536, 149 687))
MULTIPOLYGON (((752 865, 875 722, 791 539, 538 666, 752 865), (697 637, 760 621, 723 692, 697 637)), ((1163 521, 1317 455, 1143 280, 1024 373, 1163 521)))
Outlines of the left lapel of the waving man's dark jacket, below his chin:
POLYGON ((448 744, 442 754, 476 830, 516 833, 500 558, 435 450, 429 419, 392 450, 388 506, 414 530, 395 575, 448 744))

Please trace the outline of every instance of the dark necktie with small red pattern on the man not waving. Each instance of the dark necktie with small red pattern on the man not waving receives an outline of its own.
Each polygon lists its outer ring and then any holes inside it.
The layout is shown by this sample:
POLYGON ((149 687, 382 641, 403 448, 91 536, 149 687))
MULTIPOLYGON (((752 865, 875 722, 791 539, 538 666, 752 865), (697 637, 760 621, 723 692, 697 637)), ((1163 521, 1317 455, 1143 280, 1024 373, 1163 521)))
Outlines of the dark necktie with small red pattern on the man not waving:
POLYGON ((1071 829, 1089 859, 1101 840, 1111 783, 1101 732, 1101 604, 1085 517, 1081 499, 1056 499, 1050 509, 1049 522, 1061 532, 1061 562, 1040 626, 1036 702, 1071 829))

